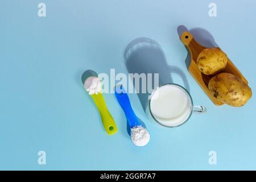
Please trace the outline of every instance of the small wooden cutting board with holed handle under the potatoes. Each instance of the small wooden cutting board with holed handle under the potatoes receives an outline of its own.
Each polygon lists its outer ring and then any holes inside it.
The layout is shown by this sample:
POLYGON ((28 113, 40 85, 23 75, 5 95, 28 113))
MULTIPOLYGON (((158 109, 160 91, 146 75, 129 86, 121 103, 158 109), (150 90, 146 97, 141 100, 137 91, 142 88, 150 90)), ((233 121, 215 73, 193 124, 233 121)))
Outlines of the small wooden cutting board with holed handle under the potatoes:
MULTIPOLYGON (((197 64, 196 64, 196 60, 197 60, 197 57, 199 56, 199 53, 204 49, 206 49, 207 47, 201 46, 199 43, 197 43, 189 31, 184 31, 180 36, 180 40, 187 47, 191 56, 191 61, 188 67, 188 71, 191 73, 193 78, 195 78, 197 83, 201 86, 201 88, 204 90, 204 92, 208 95, 210 100, 212 100, 212 102, 215 105, 223 105, 224 103, 221 101, 218 101, 215 97, 213 97, 212 94, 210 94, 210 91, 208 89, 209 80, 210 78, 213 77, 213 75, 204 75, 204 73, 200 71, 200 69, 197 67, 197 64)), ((220 48, 217 47, 217 49, 220 49, 220 48)), ((237 69, 237 67, 229 59, 228 59, 226 68, 221 72, 231 73, 233 75, 236 75, 237 77, 241 78, 241 80, 245 81, 246 84, 248 84, 248 81, 246 80, 246 78, 243 77, 242 73, 237 69)))

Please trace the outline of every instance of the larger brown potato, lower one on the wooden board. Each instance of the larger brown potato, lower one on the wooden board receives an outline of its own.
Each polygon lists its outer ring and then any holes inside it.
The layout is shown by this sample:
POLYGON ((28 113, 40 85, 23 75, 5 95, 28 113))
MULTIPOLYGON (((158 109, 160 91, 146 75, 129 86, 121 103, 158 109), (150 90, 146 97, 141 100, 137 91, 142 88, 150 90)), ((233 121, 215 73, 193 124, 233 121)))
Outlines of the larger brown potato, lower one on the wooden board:
POLYGON ((215 98, 235 107, 245 105, 252 94, 250 87, 244 81, 230 73, 213 76, 208 88, 215 98))

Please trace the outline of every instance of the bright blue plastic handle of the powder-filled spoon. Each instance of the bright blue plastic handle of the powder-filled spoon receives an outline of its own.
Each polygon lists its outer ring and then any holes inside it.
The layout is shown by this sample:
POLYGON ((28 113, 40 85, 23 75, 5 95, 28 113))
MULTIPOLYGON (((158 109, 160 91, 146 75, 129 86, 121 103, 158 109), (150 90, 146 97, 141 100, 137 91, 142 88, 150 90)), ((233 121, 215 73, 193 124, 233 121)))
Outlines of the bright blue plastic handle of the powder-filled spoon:
POLYGON ((127 118, 127 121, 129 122, 130 127, 141 125, 141 122, 139 122, 137 116, 131 108, 129 97, 122 85, 115 86, 115 97, 117 98, 119 105, 125 112, 125 116, 127 118))

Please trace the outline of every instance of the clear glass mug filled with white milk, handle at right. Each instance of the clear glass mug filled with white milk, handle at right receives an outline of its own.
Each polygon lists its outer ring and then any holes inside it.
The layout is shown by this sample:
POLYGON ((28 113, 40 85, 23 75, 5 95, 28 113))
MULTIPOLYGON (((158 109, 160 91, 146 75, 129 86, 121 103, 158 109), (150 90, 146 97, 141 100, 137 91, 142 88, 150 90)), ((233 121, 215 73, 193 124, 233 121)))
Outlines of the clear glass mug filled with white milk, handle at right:
POLYGON ((192 113, 204 113, 204 106, 194 106, 189 92, 177 84, 165 84, 154 89, 148 100, 146 114, 151 121, 166 127, 183 125, 192 113))

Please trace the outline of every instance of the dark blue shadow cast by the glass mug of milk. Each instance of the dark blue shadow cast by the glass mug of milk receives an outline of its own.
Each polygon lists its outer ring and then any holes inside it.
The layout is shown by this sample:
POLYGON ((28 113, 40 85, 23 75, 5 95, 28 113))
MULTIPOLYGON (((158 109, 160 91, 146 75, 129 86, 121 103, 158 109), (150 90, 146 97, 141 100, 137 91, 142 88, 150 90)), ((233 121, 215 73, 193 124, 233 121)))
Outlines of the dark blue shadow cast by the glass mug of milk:
MULTIPOLYGON (((141 89, 136 90, 144 110, 147 108, 148 98, 154 88, 157 88, 160 85, 174 83, 171 76, 172 73, 176 73, 181 77, 184 82, 185 89, 189 91, 187 77, 185 76, 184 72, 178 67, 168 65, 163 49, 157 42, 155 42, 155 40, 150 38, 138 38, 133 40, 127 45, 124 58, 125 65, 129 73, 138 73, 139 75, 141 73, 152 73, 151 80, 148 80, 148 77, 146 76, 146 93, 142 93, 141 89), (154 85, 154 74, 158 74, 158 85, 154 85), (148 89, 149 81, 152 85, 152 89, 150 90, 148 89)), ((135 84, 134 80, 133 84, 135 84)), ((139 88, 142 88, 141 81, 139 82, 139 88)))

